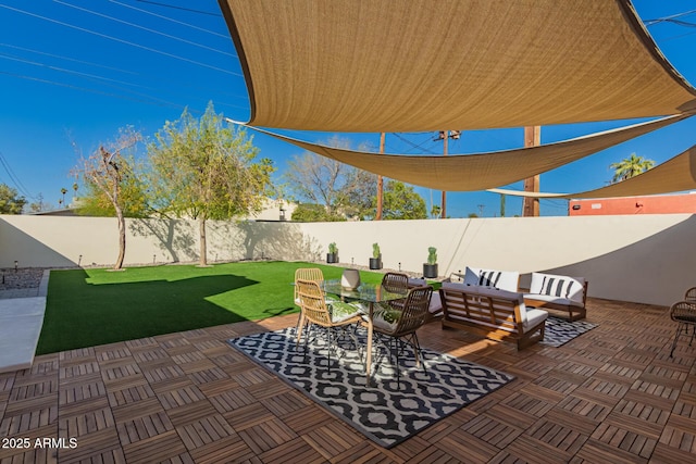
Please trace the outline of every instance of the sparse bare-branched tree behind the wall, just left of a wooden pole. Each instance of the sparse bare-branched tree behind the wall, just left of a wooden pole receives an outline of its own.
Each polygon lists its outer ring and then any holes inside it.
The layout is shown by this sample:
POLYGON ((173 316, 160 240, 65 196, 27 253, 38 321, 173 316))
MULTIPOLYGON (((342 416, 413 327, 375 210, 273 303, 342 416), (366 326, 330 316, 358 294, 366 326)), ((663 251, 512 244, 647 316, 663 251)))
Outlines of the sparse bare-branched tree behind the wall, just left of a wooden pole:
MULTIPOLYGON (((323 145, 349 149, 350 140, 334 136, 323 145)), ((288 166, 285 178, 295 196, 308 203, 323 205, 330 218, 374 215, 374 174, 309 151, 295 156, 288 166)))

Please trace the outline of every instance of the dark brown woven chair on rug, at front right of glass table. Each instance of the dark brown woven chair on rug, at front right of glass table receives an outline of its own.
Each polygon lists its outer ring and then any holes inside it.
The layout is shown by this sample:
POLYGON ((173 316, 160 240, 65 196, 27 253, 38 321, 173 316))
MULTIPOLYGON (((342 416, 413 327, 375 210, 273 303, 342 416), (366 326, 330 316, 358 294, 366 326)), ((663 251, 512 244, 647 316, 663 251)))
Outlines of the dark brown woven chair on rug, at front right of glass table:
POLYGON ((423 362, 417 330, 425 324, 432 293, 433 287, 431 286, 415 287, 409 290, 401 308, 381 304, 374 310, 372 316, 374 333, 382 336, 382 338, 386 338, 387 349, 390 356, 395 359, 399 387, 401 385, 399 354, 406 349, 407 344, 410 344, 413 349, 415 365, 422 365, 425 372, 425 363, 423 362))

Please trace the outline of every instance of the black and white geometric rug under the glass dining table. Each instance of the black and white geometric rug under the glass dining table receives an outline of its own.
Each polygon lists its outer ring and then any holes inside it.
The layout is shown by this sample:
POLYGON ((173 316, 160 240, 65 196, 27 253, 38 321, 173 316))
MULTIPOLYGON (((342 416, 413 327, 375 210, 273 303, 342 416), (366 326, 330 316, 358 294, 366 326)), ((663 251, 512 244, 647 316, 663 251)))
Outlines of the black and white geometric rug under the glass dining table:
MULTIPOLYGON (((359 331, 359 341, 364 347, 364 330, 359 331)), ((422 366, 415 366, 412 351, 406 350, 399 360, 399 388, 386 350, 375 342, 372 387, 365 387, 363 363, 349 344, 338 350, 338 360, 332 354, 330 372, 321 342, 313 343, 315 349, 310 346, 307 360, 301 344, 296 351, 294 327, 233 338, 228 343, 384 448, 400 443, 514 379, 430 350, 423 350, 424 373, 422 366)))

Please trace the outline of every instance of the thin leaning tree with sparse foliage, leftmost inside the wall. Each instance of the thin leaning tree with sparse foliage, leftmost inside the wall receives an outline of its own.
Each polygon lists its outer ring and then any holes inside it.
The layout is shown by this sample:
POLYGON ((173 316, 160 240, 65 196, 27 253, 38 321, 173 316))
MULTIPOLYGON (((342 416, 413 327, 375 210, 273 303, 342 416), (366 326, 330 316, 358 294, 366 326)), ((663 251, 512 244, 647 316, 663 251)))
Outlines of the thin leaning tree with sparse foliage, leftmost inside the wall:
MULTIPOLYGON (((126 222, 125 213, 130 186, 139 186, 138 176, 134 172, 133 158, 138 143, 142 140, 140 133, 133 127, 119 130, 113 141, 102 143, 88 158, 80 156, 73 173, 82 176, 91 195, 87 198, 100 208, 112 208, 119 226, 119 256, 113 265, 114 269, 123 267, 126 254, 126 222), (124 195, 127 191, 128 195, 124 195), (99 203, 101 202, 101 203, 99 203)), ((67 189, 61 189, 64 196, 67 189)), ((144 198, 142 189, 140 197, 144 198)), ((88 201, 89 203, 89 201, 88 201)))

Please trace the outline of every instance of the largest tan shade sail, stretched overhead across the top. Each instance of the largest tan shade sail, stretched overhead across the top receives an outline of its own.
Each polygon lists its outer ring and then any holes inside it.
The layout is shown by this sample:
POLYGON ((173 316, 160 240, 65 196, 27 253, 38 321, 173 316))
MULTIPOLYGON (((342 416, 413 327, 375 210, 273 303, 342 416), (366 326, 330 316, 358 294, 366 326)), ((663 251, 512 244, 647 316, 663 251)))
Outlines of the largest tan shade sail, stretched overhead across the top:
POLYGON ((219 3, 254 126, 475 129, 696 108, 629 0, 219 3))

